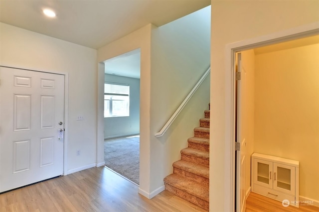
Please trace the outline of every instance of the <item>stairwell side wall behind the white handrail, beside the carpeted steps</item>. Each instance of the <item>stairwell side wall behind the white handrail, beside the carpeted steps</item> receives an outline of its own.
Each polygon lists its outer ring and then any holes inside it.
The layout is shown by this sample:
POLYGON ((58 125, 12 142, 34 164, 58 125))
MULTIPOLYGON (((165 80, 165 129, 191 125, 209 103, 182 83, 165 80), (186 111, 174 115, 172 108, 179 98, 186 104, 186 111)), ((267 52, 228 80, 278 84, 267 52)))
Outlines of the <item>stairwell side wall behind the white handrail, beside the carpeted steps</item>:
MULTIPOLYGON (((180 160, 180 150, 194 136, 194 127, 209 103, 209 76, 178 114, 166 133, 156 138, 209 67, 210 7, 205 7, 152 31, 151 55, 151 171, 153 190, 180 160)), ((213 103, 212 103, 213 104, 213 103)))

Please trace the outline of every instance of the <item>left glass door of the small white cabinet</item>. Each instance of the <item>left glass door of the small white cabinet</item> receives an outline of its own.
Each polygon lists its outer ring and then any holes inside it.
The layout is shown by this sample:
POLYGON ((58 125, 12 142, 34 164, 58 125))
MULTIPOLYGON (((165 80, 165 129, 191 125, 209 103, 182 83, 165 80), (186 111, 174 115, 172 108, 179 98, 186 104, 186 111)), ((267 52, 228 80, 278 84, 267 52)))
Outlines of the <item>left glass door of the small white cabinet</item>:
POLYGON ((272 170, 273 163, 254 159, 254 183, 260 186, 273 188, 272 170))

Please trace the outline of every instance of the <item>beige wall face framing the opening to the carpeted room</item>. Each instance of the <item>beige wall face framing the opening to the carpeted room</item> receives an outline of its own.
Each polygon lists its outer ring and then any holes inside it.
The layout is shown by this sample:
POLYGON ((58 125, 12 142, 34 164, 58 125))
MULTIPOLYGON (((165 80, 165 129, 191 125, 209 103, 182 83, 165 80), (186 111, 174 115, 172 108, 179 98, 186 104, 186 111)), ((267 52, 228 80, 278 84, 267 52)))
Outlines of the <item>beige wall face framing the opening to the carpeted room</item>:
MULTIPOLYGON (((137 48, 141 48, 141 81, 140 81, 140 188, 139 192, 144 196, 151 194, 151 153, 150 153, 150 97, 151 97, 151 31, 156 26, 148 24, 121 39, 98 49, 98 62, 103 62, 112 57, 124 54, 137 48)), ((99 106, 102 111, 102 119, 98 125, 104 126, 103 120, 103 91, 104 91, 104 65, 99 67, 99 106)), ((102 133, 100 133, 102 134, 102 133)), ((103 157, 104 139, 99 137, 101 148, 98 155, 103 157)))

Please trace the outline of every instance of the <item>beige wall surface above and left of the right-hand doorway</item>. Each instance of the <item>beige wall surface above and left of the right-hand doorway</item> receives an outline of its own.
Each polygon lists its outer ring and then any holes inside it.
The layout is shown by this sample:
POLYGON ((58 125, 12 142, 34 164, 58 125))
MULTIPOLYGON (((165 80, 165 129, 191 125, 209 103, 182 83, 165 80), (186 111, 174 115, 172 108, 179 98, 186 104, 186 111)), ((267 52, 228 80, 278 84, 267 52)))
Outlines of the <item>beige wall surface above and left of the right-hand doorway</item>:
POLYGON ((232 176, 226 176, 229 170, 224 168, 231 163, 230 155, 225 154, 228 151, 225 142, 230 143, 227 124, 230 111, 225 109, 230 107, 229 88, 226 87, 229 79, 225 78, 229 75, 224 53, 226 44, 319 21, 319 1, 212 0, 211 9, 210 102, 214 102, 211 116, 215 119, 210 126, 210 144, 214 148, 210 151, 209 199, 210 211, 220 212, 231 211, 233 196, 227 189, 232 176))

